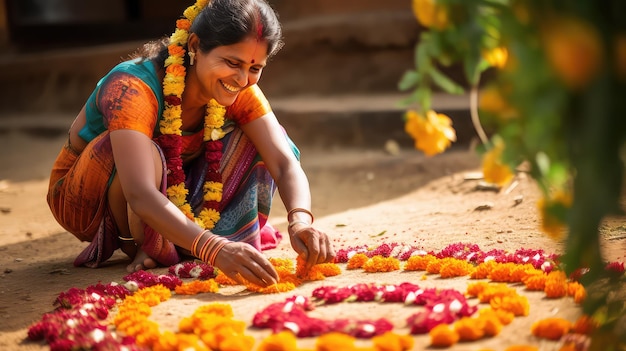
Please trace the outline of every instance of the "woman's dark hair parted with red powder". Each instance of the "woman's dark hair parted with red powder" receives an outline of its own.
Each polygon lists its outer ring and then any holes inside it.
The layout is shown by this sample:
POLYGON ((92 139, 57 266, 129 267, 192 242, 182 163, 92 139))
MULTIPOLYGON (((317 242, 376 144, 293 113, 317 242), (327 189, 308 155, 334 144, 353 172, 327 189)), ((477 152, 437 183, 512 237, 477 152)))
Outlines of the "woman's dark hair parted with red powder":
MULTIPOLYGON (((267 41, 268 57, 283 46, 278 15, 265 0, 211 0, 196 16, 189 32, 200 39, 202 52, 239 43, 248 36, 267 41)), ((169 55, 168 43, 168 38, 147 43, 138 56, 163 65, 169 55)), ((188 64, 188 57, 185 57, 185 64, 188 64)))

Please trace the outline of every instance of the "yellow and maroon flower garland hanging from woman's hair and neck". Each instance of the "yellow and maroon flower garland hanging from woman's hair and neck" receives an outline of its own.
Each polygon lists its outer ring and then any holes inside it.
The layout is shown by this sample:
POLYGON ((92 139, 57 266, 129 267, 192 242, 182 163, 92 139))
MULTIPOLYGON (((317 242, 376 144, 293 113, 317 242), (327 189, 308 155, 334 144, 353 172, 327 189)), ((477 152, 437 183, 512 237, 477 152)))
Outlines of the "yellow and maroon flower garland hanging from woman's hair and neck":
POLYGON ((205 160, 207 171, 203 186, 203 208, 196 218, 191 205, 187 202, 189 190, 185 186, 182 153, 182 95, 185 90, 186 68, 184 57, 186 52, 189 28, 196 16, 206 6, 208 0, 198 0, 184 12, 184 18, 176 21, 176 30, 170 36, 168 45, 169 56, 165 60, 165 77, 163 78, 163 95, 165 107, 163 118, 159 122, 161 135, 156 138, 163 149, 167 165, 167 197, 187 217, 205 229, 213 229, 220 219, 219 205, 222 201, 222 175, 219 166, 222 159, 222 142, 225 135, 222 127, 226 108, 215 100, 206 107, 204 117, 205 160))

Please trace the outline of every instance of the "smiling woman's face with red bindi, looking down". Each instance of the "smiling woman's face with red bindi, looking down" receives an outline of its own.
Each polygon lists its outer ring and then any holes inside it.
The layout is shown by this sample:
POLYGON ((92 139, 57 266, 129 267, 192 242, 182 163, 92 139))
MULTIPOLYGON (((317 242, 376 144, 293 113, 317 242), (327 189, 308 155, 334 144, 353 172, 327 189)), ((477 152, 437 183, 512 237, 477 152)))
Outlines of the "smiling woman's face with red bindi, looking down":
POLYGON ((243 41, 218 46, 209 53, 196 50, 194 63, 199 93, 205 101, 215 99, 230 106, 239 92, 256 84, 267 63, 267 42, 247 37, 243 41))

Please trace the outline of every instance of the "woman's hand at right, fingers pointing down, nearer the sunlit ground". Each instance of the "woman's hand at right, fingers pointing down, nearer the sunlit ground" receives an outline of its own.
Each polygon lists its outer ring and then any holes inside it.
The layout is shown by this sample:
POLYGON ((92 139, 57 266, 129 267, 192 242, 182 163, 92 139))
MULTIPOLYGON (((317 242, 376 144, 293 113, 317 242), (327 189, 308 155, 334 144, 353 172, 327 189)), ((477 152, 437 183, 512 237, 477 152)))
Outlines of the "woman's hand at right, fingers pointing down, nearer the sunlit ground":
POLYGON ((296 225, 289 228, 289 239, 293 249, 306 261, 306 270, 319 263, 332 262, 335 250, 326 233, 312 226, 296 225))

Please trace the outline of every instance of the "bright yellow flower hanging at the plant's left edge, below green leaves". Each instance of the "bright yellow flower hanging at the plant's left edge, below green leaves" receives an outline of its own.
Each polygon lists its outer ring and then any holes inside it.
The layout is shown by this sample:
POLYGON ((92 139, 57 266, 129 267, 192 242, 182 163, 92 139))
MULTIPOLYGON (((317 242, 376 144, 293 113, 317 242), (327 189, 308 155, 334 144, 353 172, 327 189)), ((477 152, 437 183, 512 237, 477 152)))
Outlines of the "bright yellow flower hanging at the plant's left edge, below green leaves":
POLYGON ((426 112, 426 117, 410 110, 405 114, 404 130, 415 140, 415 148, 427 156, 444 152, 456 141, 456 131, 452 120, 433 110, 426 112))

